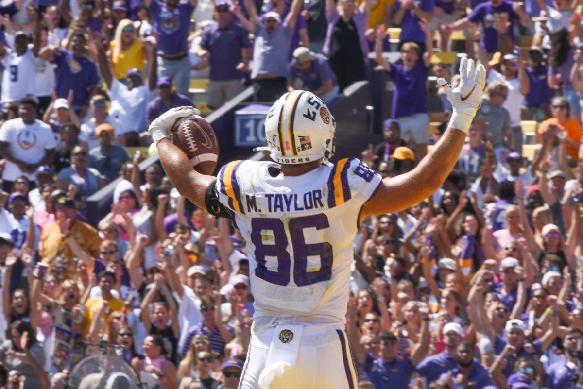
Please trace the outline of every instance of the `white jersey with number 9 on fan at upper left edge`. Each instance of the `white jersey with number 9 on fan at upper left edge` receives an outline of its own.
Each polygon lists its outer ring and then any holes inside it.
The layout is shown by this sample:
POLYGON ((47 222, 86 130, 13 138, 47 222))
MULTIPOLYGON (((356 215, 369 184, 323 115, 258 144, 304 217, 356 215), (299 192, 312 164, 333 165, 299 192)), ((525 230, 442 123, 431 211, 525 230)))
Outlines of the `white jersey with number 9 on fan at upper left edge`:
POLYGON ((0 102, 18 101, 26 96, 36 96, 37 58, 34 56, 31 45, 23 55, 17 55, 9 47, 2 57, 2 65, 6 68, 2 75, 2 97, 0 102))

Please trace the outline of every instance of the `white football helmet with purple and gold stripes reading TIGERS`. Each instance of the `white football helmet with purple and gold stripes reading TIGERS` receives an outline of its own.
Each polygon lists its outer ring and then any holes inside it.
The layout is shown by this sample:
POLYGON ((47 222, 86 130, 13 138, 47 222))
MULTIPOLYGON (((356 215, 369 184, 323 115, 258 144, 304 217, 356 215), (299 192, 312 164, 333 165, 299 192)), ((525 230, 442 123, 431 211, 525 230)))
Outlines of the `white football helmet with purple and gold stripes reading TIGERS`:
POLYGON ((336 121, 318 96, 303 90, 288 92, 276 101, 265 119, 265 139, 271 158, 280 164, 305 164, 335 151, 336 121))

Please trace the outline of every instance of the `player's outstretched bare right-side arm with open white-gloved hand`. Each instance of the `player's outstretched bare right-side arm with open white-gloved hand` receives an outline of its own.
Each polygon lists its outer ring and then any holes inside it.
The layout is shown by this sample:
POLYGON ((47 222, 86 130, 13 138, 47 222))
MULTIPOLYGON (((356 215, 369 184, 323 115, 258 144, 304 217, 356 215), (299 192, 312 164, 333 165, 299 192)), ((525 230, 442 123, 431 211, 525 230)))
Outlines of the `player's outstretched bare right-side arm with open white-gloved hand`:
POLYGON ((455 89, 444 79, 438 80, 454 109, 448 129, 415 169, 382 181, 377 193, 364 204, 363 217, 397 212, 423 201, 440 188, 455 166, 486 84, 483 65, 476 69, 472 59, 462 58, 459 69, 461 82, 455 89))

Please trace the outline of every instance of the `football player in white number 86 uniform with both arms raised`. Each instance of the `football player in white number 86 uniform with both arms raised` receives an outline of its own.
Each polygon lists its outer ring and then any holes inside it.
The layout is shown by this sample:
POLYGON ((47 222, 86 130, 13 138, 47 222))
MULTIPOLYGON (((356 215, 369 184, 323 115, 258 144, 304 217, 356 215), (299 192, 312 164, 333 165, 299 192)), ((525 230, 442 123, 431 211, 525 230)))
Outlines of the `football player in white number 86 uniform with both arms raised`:
POLYGON ((438 80, 454 109, 447 130, 415 169, 394 178, 382 179, 357 158, 328 162, 336 122, 307 91, 286 93, 269 110, 265 135, 275 162, 233 161, 217 177, 194 171, 168 139, 175 122, 197 109, 171 109, 152 122, 178 192, 232 217, 247 242, 255 314, 240 388, 357 387, 345 333, 352 242, 362 218, 419 203, 454 167, 486 81, 472 59, 459 68, 455 89, 438 80))

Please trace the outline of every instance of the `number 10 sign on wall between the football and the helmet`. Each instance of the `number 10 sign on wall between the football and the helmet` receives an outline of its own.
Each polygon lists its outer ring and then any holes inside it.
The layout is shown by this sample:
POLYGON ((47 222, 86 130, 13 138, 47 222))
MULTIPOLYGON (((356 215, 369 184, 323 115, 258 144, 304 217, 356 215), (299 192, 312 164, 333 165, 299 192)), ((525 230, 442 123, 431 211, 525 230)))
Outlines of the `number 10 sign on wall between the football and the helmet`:
POLYGON ((251 104, 235 112, 235 146, 265 145, 268 105, 251 104))

